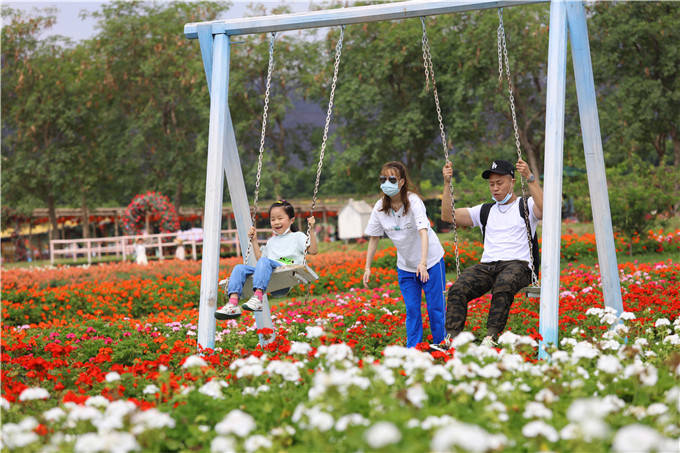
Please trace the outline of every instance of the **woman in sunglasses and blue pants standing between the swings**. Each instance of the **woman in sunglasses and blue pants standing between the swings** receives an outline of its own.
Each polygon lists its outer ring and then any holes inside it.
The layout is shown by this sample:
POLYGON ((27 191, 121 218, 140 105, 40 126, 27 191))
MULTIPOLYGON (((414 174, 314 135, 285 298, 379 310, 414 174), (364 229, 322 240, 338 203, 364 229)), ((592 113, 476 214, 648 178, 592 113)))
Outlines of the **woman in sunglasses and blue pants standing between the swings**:
POLYGON ((423 291, 432 340, 438 343, 446 336, 444 249, 430 228, 425 204, 409 190, 412 185, 406 166, 401 162, 388 162, 380 170, 379 179, 384 195, 373 207, 365 231, 370 240, 366 252, 364 286, 368 286, 371 277, 371 263, 378 241, 385 234, 397 247, 399 289, 406 304, 406 346, 411 348, 423 341, 420 312, 423 291))

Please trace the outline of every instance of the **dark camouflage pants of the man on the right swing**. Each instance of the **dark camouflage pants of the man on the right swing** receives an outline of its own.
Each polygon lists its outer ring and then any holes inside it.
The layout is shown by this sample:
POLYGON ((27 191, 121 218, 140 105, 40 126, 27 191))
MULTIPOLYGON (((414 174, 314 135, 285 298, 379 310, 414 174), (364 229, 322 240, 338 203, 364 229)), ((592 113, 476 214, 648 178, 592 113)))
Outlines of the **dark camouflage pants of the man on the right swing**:
POLYGON ((465 269, 449 289, 446 299, 446 331, 456 336, 465 328, 467 304, 491 290, 487 335, 497 336, 505 328, 515 294, 531 283, 525 261, 477 263, 465 269))

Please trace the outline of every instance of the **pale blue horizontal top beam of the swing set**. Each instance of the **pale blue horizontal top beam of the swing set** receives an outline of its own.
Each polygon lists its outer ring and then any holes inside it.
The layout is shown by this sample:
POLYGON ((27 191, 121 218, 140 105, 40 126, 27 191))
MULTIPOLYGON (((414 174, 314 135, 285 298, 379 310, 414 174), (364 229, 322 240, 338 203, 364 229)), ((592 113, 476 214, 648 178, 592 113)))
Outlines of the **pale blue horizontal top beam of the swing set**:
POLYGON ((192 22, 184 26, 184 34, 189 39, 196 39, 198 38, 199 27, 209 26, 213 35, 249 35, 254 33, 270 33, 286 30, 299 30, 303 28, 321 28, 364 22, 435 16, 477 9, 545 3, 547 1, 549 0, 411 0, 398 3, 353 6, 350 8, 309 11, 294 14, 192 22))

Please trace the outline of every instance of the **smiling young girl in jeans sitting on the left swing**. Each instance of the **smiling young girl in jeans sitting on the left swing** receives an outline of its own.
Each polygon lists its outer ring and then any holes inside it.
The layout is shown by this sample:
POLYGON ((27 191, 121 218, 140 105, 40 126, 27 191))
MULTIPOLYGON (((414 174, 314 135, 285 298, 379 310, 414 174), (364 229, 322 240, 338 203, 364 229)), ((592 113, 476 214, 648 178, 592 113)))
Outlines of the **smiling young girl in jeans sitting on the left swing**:
MULTIPOLYGON (((267 244, 260 249, 257 243, 257 230, 251 227, 248 237, 253 246, 253 253, 257 258, 255 266, 247 264, 237 264, 229 276, 227 294, 229 302, 215 311, 216 319, 235 319, 241 316, 241 307, 238 306, 243 285, 249 275, 253 276, 253 297, 243 304, 243 309, 248 311, 262 311, 262 298, 267 291, 267 285, 271 279, 272 272, 279 266, 286 264, 302 264, 305 257, 305 246, 307 245, 307 235, 296 231, 295 209, 286 200, 279 200, 269 207, 269 222, 271 223, 274 235, 267 241, 267 244)), ((311 236, 309 239, 309 250, 307 253, 316 255, 318 252, 316 233, 314 232, 314 216, 307 219, 311 225, 311 236)))

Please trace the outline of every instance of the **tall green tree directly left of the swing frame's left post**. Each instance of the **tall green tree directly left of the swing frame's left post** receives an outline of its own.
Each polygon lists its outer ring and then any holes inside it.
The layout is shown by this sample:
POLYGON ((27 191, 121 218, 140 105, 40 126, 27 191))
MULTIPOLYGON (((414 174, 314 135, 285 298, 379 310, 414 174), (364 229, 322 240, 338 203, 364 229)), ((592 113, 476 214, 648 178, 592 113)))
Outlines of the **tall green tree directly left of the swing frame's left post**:
POLYGON ((99 32, 90 46, 102 58, 108 103, 102 106, 108 113, 100 147, 112 156, 129 153, 131 167, 124 170, 144 176, 135 190, 173 193, 176 209, 186 198, 202 202, 197 196, 202 185, 191 184, 205 175, 209 112, 198 41, 188 40, 182 27, 213 20, 227 8, 213 2, 116 1, 92 14, 99 32))

